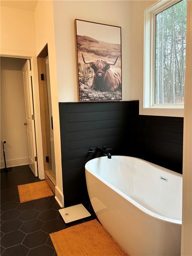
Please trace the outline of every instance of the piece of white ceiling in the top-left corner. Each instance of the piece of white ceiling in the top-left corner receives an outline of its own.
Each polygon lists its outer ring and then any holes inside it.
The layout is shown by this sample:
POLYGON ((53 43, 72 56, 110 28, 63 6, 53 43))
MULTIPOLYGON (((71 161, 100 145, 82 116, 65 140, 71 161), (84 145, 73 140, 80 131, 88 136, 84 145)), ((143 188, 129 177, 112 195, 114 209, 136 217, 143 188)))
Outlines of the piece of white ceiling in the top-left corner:
POLYGON ((16 9, 22 9, 27 11, 34 11, 35 7, 37 5, 38 1, 31 1, 31 0, 25 0, 25 1, 9 1, 9 0, 1 0, 1 6, 16 8, 16 9))

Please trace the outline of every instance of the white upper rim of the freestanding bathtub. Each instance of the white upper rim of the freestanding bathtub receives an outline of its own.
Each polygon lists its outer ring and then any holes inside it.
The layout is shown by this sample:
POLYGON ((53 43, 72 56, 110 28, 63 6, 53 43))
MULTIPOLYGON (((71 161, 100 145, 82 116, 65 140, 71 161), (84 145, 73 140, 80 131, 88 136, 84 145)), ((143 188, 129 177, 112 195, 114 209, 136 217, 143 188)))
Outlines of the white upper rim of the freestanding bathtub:
MULTIPOLYGON (((153 163, 150 163, 148 161, 145 161, 143 159, 140 159, 140 158, 137 158, 137 157, 132 157, 132 156, 118 156, 118 155, 115 155, 115 156, 112 156, 113 157, 128 157, 128 158, 135 158, 135 159, 138 159, 140 161, 143 161, 143 162, 146 162, 147 164, 149 165, 152 165, 158 169, 163 169, 165 171, 168 171, 169 173, 172 173, 173 171, 169 170, 169 169, 166 169, 164 167, 161 167, 159 165, 156 165, 156 164, 153 164, 153 163)), ((137 207, 139 210, 143 211, 144 213, 150 215, 151 217, 154 217, 154 218, 157 218, 157 219, 160 219, 162 221, 166 221, 166 222, 171 222, 171 223, 175 223, 175 224, 179 224, 179 225, 182 225, 182 220, 176 220, 176 219, 171 219, 171 218, 168 218, 168 217, 165 217, 165 216, 162 216, 160 214, 157 214, 157 213, 154 213, 150 210, 148 210, 147 208, 145 208, 144 206, 142 206, 141 204, 137 203, 135 200, 133 200, 131 197, 127 196, 125 193, 123 193, 122 191, 120 191, 118 188, 116 188, 115 186, 111 185, 108 181, 106 181, 105 179, 103 179, 101 176, 99 176, 98 174, 96 173, 93 173, 91 172, 88 167, 89 167, 89 164, 90 162, 92 161, 95 161, 96 159, 100 159, 100 158, 107 158, 107 156, 102 156, 102 157, 97 157, 97 158, 94 158, 94 159, 91 159, 89 160, 86 164, 85 164, 85 171, 88 171, 90 174, 92 174, 93 176, 95 176, 97 179, 99 179, 100 181, 102 181, 104 184, 106 184, 108 187, 110 187, 112 190, 114 190, 115 192, 117 192, 120 196, 122 196, 123 198, 125 198, 127 201, 129 201, 130 203, 132 203, 135 207, 137 207)), ((182 175, 180 173, 175 173, 176 176, 179 176, 182 178, 182 175)))

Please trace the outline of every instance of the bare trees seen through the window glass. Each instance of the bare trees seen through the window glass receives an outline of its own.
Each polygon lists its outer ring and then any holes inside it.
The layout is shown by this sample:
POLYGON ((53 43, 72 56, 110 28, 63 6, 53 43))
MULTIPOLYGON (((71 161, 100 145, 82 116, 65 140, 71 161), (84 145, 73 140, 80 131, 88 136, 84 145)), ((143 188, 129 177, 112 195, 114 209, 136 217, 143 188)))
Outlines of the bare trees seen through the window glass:
POLYGON ((187 1, 156 15, 155 104, 184 103, 187 1))

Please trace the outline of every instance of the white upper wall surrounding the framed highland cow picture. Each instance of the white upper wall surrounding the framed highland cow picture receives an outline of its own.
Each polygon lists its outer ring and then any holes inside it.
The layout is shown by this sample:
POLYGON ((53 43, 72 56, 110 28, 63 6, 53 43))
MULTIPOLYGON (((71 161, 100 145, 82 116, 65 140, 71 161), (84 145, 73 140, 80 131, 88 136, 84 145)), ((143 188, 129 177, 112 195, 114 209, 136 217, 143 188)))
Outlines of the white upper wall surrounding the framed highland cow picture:
POLYGON ((53 1, 59 102, 76 102, 77 70, 74 20, 122 27, 122 100, 131 100, 132 1, 53 1))

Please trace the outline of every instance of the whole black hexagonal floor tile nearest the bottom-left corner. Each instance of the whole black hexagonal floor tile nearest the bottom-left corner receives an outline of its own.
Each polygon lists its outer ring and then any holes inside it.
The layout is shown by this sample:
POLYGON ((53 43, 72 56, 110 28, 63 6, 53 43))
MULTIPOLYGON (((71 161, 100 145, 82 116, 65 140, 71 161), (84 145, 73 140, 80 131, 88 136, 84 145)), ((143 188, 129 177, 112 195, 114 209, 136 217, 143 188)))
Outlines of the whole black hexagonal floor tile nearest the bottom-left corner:
POLYGON ((23 241, 25 236, 26 234, 20 230, 7 233, 2 237, 1 245, 4 248, 7 248, 16 244, 20 244, 23 241))

